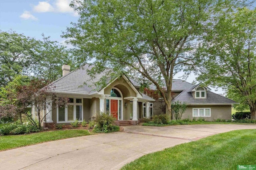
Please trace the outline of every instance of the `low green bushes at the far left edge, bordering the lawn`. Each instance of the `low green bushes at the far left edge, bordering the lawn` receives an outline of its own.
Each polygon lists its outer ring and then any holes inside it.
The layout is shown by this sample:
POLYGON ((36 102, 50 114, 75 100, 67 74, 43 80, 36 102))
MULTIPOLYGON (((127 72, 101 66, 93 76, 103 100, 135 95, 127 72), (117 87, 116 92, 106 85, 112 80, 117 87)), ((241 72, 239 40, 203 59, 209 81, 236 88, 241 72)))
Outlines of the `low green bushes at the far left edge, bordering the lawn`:
POLYGON ((30 124, 18 125, 17 123, 10 123, 0 128, 0 135, 21 135, 38 131, 40 130, 37 127, 30 124))

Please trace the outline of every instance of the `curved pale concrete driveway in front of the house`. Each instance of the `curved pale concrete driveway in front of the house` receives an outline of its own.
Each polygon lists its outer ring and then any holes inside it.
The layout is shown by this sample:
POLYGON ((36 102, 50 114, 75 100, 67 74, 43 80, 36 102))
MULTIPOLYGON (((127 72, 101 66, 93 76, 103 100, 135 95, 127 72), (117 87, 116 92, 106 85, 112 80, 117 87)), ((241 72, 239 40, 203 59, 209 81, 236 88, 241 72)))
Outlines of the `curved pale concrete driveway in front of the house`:
POLYGON ((126 126, 124 132, 63 139, 0 152, 0 169, 119 169, 174 145, 256 125, 126 126))

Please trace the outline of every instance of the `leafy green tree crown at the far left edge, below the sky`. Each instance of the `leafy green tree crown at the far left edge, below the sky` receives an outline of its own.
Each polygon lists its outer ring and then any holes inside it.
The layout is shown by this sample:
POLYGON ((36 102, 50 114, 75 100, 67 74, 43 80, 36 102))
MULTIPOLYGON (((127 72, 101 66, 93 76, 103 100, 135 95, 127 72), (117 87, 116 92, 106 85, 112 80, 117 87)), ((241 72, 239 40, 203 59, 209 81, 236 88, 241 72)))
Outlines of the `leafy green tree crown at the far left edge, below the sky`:
POLYGON ((0 86, 6 86, 20 73, 26 74, 40 59, 40 42, 14 31, 0 30, 0 86))

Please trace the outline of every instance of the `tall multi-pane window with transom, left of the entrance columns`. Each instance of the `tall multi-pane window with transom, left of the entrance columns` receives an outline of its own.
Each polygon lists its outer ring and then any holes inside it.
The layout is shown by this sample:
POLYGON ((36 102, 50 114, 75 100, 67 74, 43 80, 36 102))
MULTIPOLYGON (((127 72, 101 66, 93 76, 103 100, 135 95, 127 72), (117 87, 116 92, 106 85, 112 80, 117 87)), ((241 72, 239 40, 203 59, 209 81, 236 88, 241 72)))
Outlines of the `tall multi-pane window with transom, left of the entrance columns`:
POLYGON ((67 107, 57 107, 57 123, 73 122, 83 120, 83 102, 82 98, 69 98, 67 107))

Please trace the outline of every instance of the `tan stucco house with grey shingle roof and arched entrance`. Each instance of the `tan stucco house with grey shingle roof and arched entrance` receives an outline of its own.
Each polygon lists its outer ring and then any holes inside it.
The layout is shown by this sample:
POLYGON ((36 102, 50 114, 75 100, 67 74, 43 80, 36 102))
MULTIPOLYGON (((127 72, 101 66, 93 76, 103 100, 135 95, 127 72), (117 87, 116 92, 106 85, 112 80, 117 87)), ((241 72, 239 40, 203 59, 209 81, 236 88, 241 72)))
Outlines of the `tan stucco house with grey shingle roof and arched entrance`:
MULTIPOLYGON (((53 87, 58 96, 68 97, 70 103, 64 108, 57 107, 51 110, 51 107, 48 107, 45 120, 47 124, 70 123, 76 119, 89 121, 101 111, 110 112, 117 120, 130 120, 136 125, 139 119, 162 113, 160 109, 162 99, 155 101, 146 94, 140 93, 140 84, 124 74, 112 82, 107 82, 103 88, 97 89, 95 82, 100 80, 104 73, 97 74, 92 79, 87 74, 87 70, 92 68, 93 65, 86 64, 70 72, 70 66, 65 64, 62 66, 63 76, 48 86, 53 87)), ((172 91, 173 101, 185 102, 188 105, 182 118, 231 119, 231 105, 235 102, 210 92, 210 88, 202 84, 193 85, 175 79, 172 91)), ((50 101, 49 98, 47 100, 50 101)))

